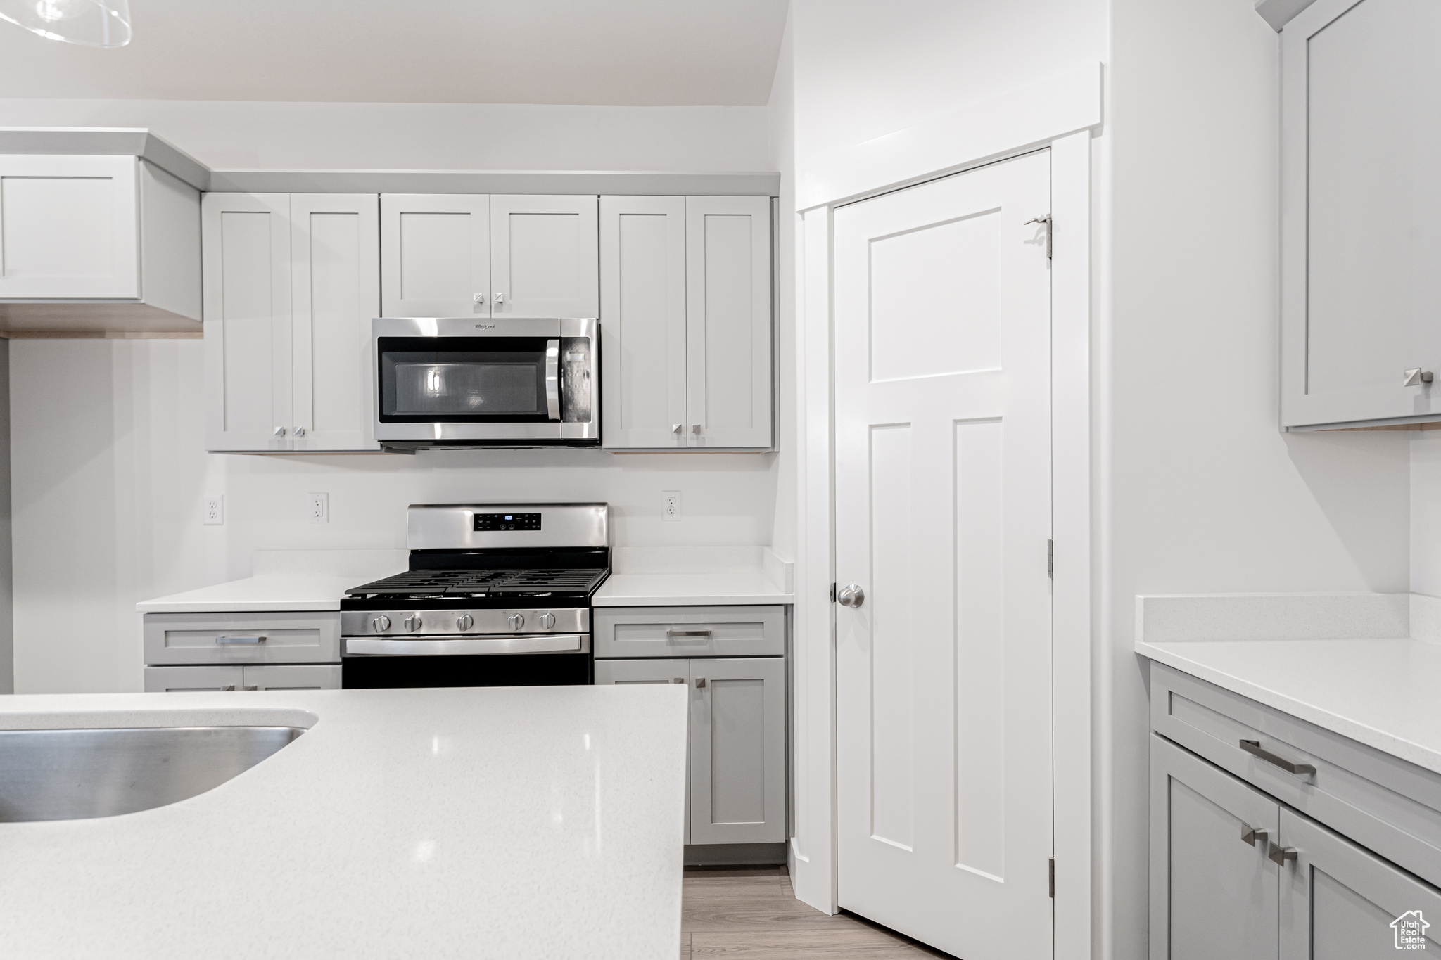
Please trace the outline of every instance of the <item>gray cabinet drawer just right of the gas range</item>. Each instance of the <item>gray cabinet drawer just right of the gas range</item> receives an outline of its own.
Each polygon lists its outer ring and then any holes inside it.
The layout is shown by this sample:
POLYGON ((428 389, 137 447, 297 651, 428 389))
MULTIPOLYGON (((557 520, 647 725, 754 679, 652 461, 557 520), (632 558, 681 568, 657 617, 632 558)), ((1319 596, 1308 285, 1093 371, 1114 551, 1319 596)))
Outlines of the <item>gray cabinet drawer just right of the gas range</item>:
POLYGON ((595 656, 781 656, 785 607, 598 607, 595 656))

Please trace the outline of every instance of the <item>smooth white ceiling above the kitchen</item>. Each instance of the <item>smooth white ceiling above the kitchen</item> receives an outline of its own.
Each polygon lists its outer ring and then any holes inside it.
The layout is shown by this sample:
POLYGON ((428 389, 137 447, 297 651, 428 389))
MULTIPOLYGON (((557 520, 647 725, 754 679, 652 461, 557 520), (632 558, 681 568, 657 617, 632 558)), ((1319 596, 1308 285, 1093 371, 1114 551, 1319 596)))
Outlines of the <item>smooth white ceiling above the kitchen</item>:
POLYGON ((10 98, 765 104, 787 0, 130 0, 134 40, 0 22, 10 98))

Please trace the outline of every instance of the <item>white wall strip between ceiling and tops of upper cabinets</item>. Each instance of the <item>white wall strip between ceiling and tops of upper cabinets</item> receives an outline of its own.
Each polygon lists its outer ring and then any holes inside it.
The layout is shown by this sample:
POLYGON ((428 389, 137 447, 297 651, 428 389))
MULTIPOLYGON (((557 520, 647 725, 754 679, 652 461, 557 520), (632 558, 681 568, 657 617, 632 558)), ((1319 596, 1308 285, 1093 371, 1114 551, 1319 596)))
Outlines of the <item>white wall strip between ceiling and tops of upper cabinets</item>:
POLYGON ((0 127, 148 127, 216 170, 775 168, 764 107, 0 99, 0 127))

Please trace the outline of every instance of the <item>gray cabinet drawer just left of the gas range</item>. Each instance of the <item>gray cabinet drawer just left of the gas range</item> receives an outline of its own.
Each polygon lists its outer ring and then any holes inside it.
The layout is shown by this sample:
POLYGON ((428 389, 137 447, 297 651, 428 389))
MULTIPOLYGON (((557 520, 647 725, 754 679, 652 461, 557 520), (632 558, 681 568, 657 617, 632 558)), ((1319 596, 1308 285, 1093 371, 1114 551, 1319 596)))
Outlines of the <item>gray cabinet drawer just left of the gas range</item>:
POLYGON ((339 664, 340 612, 147 613, 146 664, 339 664))

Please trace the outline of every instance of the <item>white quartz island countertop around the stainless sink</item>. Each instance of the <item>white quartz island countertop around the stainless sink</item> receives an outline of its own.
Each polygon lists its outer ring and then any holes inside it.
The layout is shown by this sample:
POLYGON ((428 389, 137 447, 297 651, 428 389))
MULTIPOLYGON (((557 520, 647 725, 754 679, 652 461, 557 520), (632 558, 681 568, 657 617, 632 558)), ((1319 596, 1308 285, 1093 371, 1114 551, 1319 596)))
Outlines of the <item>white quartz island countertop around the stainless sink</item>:
POLYGON ((0 698, 0 728, 303 725, 179 803, 0 823, 0 953, 673 960, 683 688, 0 698))

